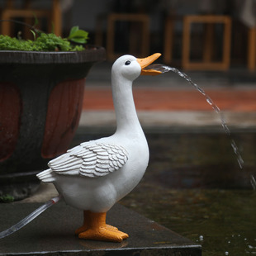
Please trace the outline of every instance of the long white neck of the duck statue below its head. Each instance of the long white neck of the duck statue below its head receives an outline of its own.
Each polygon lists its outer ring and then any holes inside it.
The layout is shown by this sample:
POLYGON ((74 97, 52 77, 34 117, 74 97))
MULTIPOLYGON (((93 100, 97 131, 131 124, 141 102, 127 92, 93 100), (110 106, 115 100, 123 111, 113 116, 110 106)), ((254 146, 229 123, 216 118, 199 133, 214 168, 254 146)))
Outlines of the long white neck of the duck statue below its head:
POLYGON ((143 132, 132 95, 132 82, 126 78, 112 78, 112 95, 116 111, 116 133, 126 135, 143 132))

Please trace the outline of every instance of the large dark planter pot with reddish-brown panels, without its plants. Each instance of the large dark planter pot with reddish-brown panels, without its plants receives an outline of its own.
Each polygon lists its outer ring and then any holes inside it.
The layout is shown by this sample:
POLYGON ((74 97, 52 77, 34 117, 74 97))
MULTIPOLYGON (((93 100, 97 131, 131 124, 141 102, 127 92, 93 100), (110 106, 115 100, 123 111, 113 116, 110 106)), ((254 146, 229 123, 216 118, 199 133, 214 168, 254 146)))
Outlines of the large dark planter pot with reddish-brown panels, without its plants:
POLYGON ((36 189, 36 173, 63 154, 78 127, 85 78, 105 59, 81 52, 0 51, 0 196, 36 189))

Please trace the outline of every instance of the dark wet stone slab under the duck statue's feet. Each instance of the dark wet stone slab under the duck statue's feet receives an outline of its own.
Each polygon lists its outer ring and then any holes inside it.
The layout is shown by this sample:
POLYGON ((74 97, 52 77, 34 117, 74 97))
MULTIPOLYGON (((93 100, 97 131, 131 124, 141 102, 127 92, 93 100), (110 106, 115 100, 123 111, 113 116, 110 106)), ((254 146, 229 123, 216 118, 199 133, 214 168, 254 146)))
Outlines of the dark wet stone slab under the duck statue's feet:
MULTIPOLYGON (((0 230, 36 210, 40 203, 0 204, 0 230)), ((0 239, 0 255, 201 255, 201 245, 117 204, 107 223, 130 235, 121 244, 78 239, 73 232, 83 213, 64 201, 50 207, 29 225, 0 239)))

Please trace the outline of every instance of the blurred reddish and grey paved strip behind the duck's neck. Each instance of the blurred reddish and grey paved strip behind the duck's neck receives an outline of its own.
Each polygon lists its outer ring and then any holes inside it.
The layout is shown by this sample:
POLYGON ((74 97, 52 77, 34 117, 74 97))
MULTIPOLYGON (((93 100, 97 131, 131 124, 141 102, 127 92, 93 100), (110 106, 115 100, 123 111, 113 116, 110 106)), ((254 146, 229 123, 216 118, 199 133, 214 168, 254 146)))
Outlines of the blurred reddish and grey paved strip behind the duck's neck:
MULTIPOLYGON (((186 72, 220 107, 230 126, 256 127, 256 74, 247 69, 228 72, 186 72)), ((111 64, 95 65, 88 74, 80 126, 115 126, 111 98, 111 64)), ((134 98, 142 126, 216 126, 206 98, 176 73, 140 77, 134 98)))

